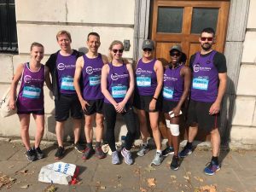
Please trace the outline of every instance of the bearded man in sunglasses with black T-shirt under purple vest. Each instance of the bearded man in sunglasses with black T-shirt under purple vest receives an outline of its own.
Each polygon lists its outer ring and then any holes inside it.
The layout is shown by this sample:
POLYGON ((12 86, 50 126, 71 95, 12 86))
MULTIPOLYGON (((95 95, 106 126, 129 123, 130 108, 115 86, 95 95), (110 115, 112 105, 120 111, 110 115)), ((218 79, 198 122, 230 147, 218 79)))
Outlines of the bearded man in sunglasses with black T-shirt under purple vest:
POLYGON ((204 169, 207 175, 214 175, 220 170, 218 162, 220 135, 220 106, 227 83, 227 67, 225 56, 212 49, 215 44, 215 32, 212 28, 201 31, 201 51, 192 55, 189 61, 193 77, 191 84, 191 98, 189 102, 188 143, 179 153, 179 157, 186 157, 192 153, 192 143, 198 128, 211 134, 212 160, 204 169))

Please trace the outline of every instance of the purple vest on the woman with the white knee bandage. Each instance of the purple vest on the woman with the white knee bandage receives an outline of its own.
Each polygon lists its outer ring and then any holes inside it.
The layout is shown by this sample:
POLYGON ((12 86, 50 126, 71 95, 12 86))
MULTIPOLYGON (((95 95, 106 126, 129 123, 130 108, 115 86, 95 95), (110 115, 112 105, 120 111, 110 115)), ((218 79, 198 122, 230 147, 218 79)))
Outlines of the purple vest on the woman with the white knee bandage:
POLYGON ((167 67, 164 74, 163 97, 167 101, 178 102, 183 95, 184 79, 180 75, 183 64, 175 68, 167 67))

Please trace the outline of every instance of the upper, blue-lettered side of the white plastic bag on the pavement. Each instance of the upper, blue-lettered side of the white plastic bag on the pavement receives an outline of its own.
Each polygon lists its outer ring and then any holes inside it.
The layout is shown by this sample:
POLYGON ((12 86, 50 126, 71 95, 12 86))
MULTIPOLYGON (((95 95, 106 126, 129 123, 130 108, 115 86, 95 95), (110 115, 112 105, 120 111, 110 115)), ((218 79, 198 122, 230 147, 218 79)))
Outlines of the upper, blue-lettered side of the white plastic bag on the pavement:
POLYGON ((54 170, 55 172, 62 172, 70 176, 73 176, 73 173, 76 171, 76 165, 73 165, 71 163, 64 163, 61 161, 49 164, 47 165, 47 167, 54 170))

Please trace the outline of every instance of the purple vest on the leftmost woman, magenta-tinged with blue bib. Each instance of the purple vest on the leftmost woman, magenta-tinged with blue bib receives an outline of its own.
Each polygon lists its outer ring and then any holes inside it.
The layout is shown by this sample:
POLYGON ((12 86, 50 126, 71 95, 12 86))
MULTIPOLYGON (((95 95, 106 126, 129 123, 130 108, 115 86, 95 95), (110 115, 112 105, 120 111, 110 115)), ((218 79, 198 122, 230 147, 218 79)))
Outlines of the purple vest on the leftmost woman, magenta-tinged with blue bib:
POLYGON ((24 65, 20 91, 17 99, 20 112, 39 111, 44 109, 44 65, 38 72, 32 72, 28 63, 24 65))

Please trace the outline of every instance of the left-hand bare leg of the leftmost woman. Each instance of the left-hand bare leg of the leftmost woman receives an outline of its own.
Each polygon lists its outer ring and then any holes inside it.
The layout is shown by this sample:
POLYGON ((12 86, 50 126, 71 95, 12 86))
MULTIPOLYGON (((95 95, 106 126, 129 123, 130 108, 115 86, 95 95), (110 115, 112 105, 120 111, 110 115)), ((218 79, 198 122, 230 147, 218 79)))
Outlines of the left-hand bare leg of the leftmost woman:
POLYGON ((30 122, 30 114, 19 114, 20 119, 20 135, 22 139, 22 143, 25 145, 26 150, 29 150, 30 147, 30 138, 29 138, 29 122, 30 122))

